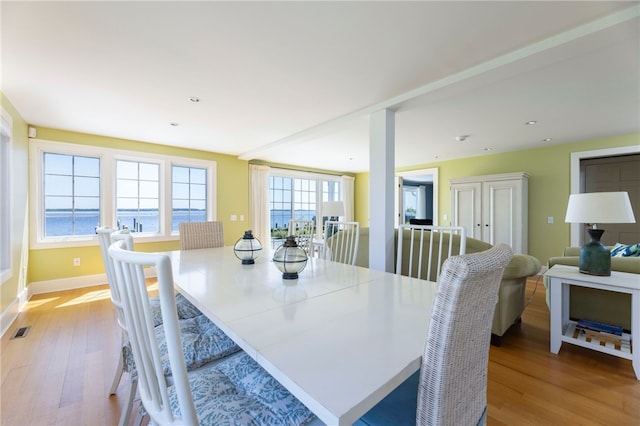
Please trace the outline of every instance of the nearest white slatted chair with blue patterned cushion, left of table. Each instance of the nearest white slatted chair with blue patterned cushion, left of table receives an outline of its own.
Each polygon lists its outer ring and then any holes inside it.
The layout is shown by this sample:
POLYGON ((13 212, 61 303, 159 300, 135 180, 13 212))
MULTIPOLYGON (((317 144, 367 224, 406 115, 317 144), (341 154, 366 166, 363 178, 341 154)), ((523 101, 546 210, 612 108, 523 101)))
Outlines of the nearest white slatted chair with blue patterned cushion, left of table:
POLYGON ((109 248, 125 325, 139 377, 140 401, 159 425, 304 425, 316 419, 300 401, 245 352, 187 374, 173 296, 168 255, 109 248), (172 383, 164 379, 161 348, 154 333, 144 266, 154 267, 172 383))

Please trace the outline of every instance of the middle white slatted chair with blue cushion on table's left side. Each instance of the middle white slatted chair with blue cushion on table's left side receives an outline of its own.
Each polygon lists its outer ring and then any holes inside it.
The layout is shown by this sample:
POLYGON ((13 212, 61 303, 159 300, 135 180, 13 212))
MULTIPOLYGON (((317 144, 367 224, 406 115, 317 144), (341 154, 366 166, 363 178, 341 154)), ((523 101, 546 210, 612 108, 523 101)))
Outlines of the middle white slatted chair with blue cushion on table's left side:
MULTIPOLYGON (((123 374, 128 373, 129 375, 127 395, 118 422, 120 426, 123 426, 130 423, 133 402, 137 389, 137 371, 135 363, 133 362, 129 336, 125 326, 122 297, 120 290, 115 285, 114 265, 112 259, 109 257, 108 249, 112 242, 122 241, 122 244, 128 250, 133 251, 133 237, 127 230, 115 231, 108 227, 97 228, 96 232, 98 234, 100 249, 107 274, 111 302, 113 303, 116 311, 117 324, 121 329, 121 353, 118 356, 118 365, 116 367, 113 382, 109 389, 109 395, 114 395, 117 392, 123 374)), ((185 356, 189 359, 188 369, 191 370, 198 368, 208 362, 220 359, 240 350, 233 340, 226 336, 222 330, 216 327, 208 318, 202 315, 202 313, 191 302, 185 299, 184 296, 180 293, 174 293, 174 298, 176 299, 176 314, 180 318, 180 327, 181 330, 183 330, 185 337, 183 346, 185 356)), ((164 343, 165 331, 162 327, 162 311, 160 299, 158 297, 149 298, 149 312, 153 321, 153 326, 155 327, 156 338, 161 342, 161 347, 164 348, 166 346, 166 343, 164 343)), ((165 371, 165 375, 168 376, 170 375, 170 368, 168 365, 166 348, 163 349, 163 354, 163 369, 165 371)), ((139 420, 136 420, 135 424, 139 424, 139 420)))

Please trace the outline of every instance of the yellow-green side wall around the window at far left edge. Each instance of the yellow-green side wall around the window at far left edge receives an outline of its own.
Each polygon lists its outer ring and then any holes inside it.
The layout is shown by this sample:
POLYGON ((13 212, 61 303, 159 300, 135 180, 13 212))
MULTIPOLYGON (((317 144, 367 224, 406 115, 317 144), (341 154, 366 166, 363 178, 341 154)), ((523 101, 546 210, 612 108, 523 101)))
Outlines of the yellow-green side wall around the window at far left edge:
MULTIPOLYGON (((0 93, 2 108, 9 113, 13 124, 13 138, 11 140, 11 211, 0 212, 10 215, 11 220, 11 263, 13 275, 2 283, 0 291, 0 312, 21 295, 27 286, 27 263, 29 240, 28 209, 28 138, 27 123, 14 108, 9 99, 0 93)), ((7 238, 2 235, 0 238, 7 238)), ((16 307, 17 309, 17 307, 16 307)))

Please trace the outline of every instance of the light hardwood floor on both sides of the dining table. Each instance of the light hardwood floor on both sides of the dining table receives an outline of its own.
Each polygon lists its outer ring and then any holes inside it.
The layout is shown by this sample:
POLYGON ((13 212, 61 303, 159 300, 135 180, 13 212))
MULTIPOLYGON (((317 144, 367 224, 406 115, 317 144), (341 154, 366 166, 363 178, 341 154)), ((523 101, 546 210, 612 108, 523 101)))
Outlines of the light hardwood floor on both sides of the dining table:
MULTIPOLYGON (((489 425, 640 425, 631 361, 572 345, 549 352, 542 282, 522 323, 491 347, 489 425)), ((0 424, 115 425, 124 382, 108 397, 119 345, 108 287, 34 296, 2 337, 0 424), (31 326, 26 338, 13 331, 31 326)))

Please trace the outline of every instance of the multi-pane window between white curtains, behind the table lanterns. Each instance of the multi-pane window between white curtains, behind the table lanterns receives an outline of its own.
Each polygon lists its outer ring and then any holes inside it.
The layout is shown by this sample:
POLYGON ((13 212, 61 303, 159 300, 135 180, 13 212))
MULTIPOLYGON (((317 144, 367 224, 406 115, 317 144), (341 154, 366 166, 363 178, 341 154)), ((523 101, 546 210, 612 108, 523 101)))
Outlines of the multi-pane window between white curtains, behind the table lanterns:
POLYGON ((271 213, 271 242, 273 247, 282 244, 289 233, 289 220, 315 220, 321 233, 322 202, 341 201, 340 178, 314 173, 272 170, 269 176, 271 213), (321 190, 320 190, 321 189, 321 190))

